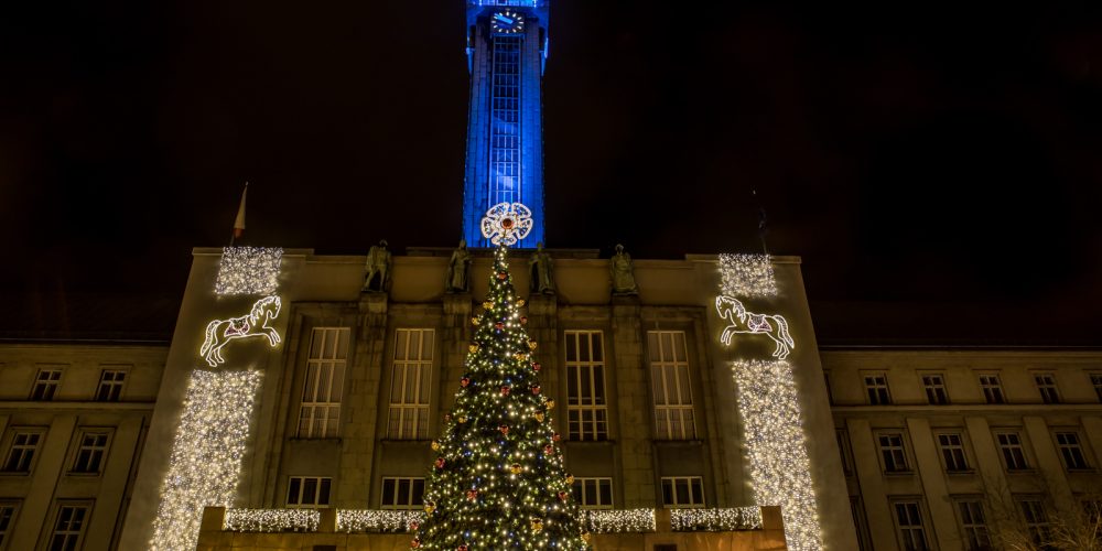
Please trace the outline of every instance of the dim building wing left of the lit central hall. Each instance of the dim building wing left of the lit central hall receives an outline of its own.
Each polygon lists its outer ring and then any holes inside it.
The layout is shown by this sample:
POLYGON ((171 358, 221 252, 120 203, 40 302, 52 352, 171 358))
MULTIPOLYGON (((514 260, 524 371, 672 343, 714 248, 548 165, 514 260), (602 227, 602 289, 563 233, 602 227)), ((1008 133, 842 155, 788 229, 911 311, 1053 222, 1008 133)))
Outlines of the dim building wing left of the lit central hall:
POLYGON ((166 354, 0 344, 0 550, 117 549, 166 354))

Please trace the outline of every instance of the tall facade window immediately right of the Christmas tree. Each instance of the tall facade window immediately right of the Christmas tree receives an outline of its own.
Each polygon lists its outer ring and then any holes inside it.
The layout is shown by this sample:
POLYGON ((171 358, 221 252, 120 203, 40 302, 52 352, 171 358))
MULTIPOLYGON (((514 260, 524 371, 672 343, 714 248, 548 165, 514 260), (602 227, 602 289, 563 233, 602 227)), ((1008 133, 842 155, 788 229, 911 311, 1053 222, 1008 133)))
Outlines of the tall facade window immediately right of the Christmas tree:
POLYGON ((607 440, 604 335, 568 331, 566 424, 570 440, 607 440))

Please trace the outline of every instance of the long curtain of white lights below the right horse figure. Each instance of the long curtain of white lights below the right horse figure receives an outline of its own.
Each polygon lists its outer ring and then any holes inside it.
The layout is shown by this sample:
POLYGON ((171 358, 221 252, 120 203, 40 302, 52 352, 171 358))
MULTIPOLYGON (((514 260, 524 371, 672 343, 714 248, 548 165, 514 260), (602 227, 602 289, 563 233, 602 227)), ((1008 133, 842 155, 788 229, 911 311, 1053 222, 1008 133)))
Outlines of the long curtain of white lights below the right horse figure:
POLYGON ((789 549, 820 550, 822 534, 792 366, 736 360, 731 368, 757 503, 781 507, 789 549))

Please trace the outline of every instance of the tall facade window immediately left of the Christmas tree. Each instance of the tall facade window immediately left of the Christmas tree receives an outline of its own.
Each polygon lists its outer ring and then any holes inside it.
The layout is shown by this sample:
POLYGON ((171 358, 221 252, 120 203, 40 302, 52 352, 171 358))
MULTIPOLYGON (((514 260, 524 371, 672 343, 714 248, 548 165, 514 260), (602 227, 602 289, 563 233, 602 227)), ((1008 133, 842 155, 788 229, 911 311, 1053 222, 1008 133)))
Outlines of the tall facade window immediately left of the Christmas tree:
POLYGON ((429 437, 429 388, 434 336, 433 329, 398 329, 395 333, 395 371, 390 379, 387 437, 429 437))

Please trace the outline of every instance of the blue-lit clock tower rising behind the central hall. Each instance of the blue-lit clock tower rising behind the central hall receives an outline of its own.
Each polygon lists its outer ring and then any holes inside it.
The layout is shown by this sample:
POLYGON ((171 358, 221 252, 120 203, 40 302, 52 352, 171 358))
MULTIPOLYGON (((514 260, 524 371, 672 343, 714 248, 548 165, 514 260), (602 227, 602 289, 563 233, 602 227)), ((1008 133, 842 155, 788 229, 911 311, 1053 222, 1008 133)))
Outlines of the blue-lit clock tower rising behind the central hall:
POLYGON ((463 237, 483 238, 486 210, 522 203, 534 226, 517 247, 543 240, 543 98, 550 0, 467 0, 471 112, 463 237))

